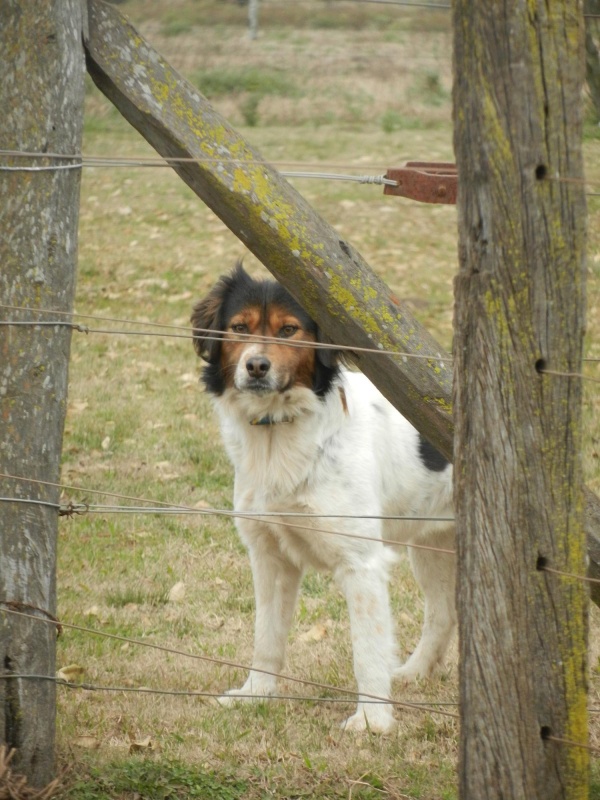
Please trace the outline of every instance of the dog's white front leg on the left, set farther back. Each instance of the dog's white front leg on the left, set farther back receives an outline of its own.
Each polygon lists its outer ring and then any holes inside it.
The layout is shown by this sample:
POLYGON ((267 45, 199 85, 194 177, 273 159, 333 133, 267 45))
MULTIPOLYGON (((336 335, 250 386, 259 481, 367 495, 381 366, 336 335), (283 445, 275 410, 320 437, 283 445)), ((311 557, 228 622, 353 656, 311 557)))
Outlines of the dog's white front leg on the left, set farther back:
POLYGON ((283 668, 302 578, 302 570, 281 555, 269 534, 254 539, 249 553, 256 600, 254 657, 245 684, 221 698, 225 705, 275 693, 277 678, 270 673, 279 673, 283 668))

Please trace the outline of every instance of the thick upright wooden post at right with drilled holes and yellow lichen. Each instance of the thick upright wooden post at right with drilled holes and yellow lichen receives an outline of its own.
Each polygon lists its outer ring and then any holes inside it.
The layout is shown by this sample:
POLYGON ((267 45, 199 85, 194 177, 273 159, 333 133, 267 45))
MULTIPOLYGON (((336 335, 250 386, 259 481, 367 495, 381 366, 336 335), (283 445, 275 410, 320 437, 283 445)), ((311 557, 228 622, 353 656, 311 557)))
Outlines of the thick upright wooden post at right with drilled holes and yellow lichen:
POLYGON ((585 798, 581 4, 453 8, 460 796, 585 798))

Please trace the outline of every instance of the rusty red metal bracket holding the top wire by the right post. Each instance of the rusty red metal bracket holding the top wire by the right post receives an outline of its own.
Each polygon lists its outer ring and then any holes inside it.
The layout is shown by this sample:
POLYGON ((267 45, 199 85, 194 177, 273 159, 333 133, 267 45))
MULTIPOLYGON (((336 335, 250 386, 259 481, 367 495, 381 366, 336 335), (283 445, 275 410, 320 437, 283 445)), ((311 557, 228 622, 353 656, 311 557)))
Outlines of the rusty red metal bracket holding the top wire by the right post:
POLYGON ((392 167, 385 175, 397 186, 384 186, 384 194, 408 197, 422 203, 456 203, 458 173, 456 164, 436 161, 407 161, 392 167))

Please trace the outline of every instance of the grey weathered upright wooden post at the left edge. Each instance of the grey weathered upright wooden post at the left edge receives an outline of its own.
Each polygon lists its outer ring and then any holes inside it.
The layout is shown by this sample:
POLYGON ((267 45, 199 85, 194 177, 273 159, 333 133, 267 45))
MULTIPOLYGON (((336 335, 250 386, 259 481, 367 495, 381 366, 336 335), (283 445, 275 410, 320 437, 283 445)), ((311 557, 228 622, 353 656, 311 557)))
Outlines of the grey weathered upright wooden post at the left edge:
MULTIPOLYGON (((1 4, 3 148, 81 151, 83 19, 80 0, 1 4)), ((2 164, 16 171, 0 171, 0 303, 70 311, 80 169, 54 169, 69 162, 51 157, 2 164)), ((15 316, 0 309, 0 320, 15 316)), ((0 325, 0 472, 58 481, 70 339, 65 327, 0 325)), ((5 497, 59 499, 58 489, 0 484, 5 497)), ((55 508, 0 503, 0 742, 17 748, 13 768, 36 786, 54 771, 54 684, 10 676, 54 675, 56 629, 2 609, 56 613, 57 527, 55 508)))

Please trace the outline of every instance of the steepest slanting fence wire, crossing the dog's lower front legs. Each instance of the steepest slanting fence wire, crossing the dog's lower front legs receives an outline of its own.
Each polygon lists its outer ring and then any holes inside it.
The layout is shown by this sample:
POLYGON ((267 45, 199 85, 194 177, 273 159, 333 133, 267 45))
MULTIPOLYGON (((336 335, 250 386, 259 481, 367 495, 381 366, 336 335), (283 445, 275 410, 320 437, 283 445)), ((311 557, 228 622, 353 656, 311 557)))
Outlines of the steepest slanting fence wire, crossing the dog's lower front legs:
MULTIPOLYGON (((34 614, 27 614, 27 613, 25 613, 23 611, 16 611, 15 609, 6 607, 7 603, 5 601, 3 601, 3 600, 0 600, 0 605, 4 606, 3 612, 0 612, 0 613, 13 614, 15 616, 19 616, 19 617, 23 617, 25 619, 33 620, 35 622, 43 623, 45 625, 53 625, 55 627, 60 625, 62 628, 66 629, 66 630, 76 630, 76 631, 79 631, 80 633, 86 633, 86 634, 89 634, 89 635, 99 636, 99 637, 102 637, 102 638, 105 638, 105 639, 110 639, 110 640, 113 640, 113 641, 123 642, 123 643, 127 643, 127 644, 133 644, 133 645, 136 645, 138 647, 146 647, 146 648, 151 649, 151 650, 158 650, 158 651, 160 651, 162 653, 167 653, 167 654, 170 654, 170 655, 183 656, 184 658, 190 658, 190 659, 194 659, 194 660, 197 660, 197 661, 204 661, 206 663, 216 664, 217 666, 221 666, 221 667, 229 667, 231 669, 238 669, 238 670, 242 670, 244 672, 259 672, 259 673, 261 673, 263 675, 270 675, 271 677, 277 678, 279 680, 289 681, 291 683, 299 683, 299 684, 302 684, 304 686, 311 686, 311 687, 313 687, 315 689, 321 689, 322 691, 337 692, 339 694, 348 694, 351 697, 360 698, 361 702, 362 702, 362 698, 364 697, 367 700, 375 700, 378 703, 388 703, 390 705, 395 705, 395 706, 399 706, 399 707, 402 707, 402 708, 416 708, 416 710, 418 710, 418 711, 430 711, 431 713, 434 713, 434 714, 441 714, 443 716, 452 717, 452 718, 456 718, 456 719, 458 718, 458 714, 454 714, 454 713, 449 712, 449 711, 438 710, 438 709, 435 709, 435 708, 429 708, 429 706, 413 705, 410 702, 400 701, 400 700, 388 700, 385 697, 380 697, 379 695, 374 695, 374 694, 371 694, 369 692, 359 692, 357 689, 348 689, 348 688, 344 688, 344 687, 340 687, 340 686, 334 686, 333 684, 329 684, 329 683, 320 683, 318 681, 311 681, 311 680, 308 680, 306 678, 296 678, 296 677, 294 677, 292 675, 286 675, 286 674, 283 674, 283 673, 280 673, 280 672, 273 672, 271 670, 260 669, 260 668, 255 667, 255 666, 248 666, 247 664, 240 664, 240 663, 238 663, 236 661, 231 661, 229 659, 218 658, 216 656, 207 656, 207 655, 202 654, 202 653, 190 653, 190 652, 188 652, 186 650, 179 650, 177 648, 167 647, 165 645, 157 644, 155 642, 146 642, 146 641, 144 641, 142 639, 132 639, 132 638, 129 638, 127 636, 121 636, 120 634, 117 634, 117 633, 108 633, 107 631, 99 631, 96 628, 86 628, 83 625, 75 625, 75 624, 70 623, 70 622, 64 622, 63 620, 54 621, 54 620, 48 619, 46 617, 38 617, 38 616, 35 616, 34 614)), ((218 695, 218 697, 224 697, 224 696, 226 696, 226 693, 223 693, 223 692, 221 692, 221 694, 218 695)), ((235 698, 235 695, 231 695, 231 697, 235 698)))

